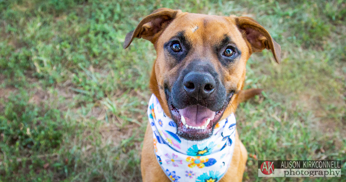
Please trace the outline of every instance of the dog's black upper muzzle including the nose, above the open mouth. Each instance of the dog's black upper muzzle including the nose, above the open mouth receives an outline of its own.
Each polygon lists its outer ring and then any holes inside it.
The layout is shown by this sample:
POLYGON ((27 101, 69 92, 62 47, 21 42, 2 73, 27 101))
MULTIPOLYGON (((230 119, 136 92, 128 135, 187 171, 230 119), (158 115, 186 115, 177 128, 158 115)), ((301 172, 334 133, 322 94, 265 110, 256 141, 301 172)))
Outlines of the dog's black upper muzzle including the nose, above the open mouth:
POLYGON ((218 111, 226 99, 225 86, 208 60, 197 59, 181 69, 171 92, 172 104, 177 109, 200 105, 218 111))

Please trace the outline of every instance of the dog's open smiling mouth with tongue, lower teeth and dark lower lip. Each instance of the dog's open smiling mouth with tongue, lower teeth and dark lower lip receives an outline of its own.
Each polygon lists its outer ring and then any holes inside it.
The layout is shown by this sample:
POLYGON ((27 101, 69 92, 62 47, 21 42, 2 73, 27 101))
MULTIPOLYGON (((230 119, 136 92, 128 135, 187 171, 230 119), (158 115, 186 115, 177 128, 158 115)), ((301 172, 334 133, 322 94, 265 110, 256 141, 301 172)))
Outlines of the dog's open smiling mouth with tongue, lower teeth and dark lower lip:
POLYGON ((187 140, 204 140, 209 138, 233 95, 234 91, 229 94, 227 101, 221 109, 212 111, 198 104, 190 105, 184 109, 177 109, 171 102, 170 94, 166 93, 172 119, 177 124, 177 135, 187 140))

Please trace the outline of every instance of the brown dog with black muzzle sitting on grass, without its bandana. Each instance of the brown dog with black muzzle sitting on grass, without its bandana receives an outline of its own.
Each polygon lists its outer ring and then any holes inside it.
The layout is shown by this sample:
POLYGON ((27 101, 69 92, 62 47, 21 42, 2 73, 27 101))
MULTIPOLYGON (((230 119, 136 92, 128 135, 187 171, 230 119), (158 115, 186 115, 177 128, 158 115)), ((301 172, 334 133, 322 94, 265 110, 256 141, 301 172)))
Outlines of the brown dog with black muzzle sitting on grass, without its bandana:
MULTIPOLYGON (((165 114, 178 125, 177 135, 188 140, 207 139, 215 124, 235 112, 238 103, 261 92, 260 89, 242 91, 245 65, 253 52, 268 49, 277 63, 281 61, 280 45, 249 17, 221 17, 160 8, 126 35, 124 48, 134 38, 144 38, 154 44, 157 59, 150 79, 151 91, 165 114), (180 115, 171 112, 190 107, 216 113, 205 132, 180 127, 180 115)), ((184 116, 199 122, 198 109, 191 112, 184 116)), ((234 143, 230 167, 222 182, 243 178, 247 151, 238 133, 234 143)), ((141 161, 143 181, 170 181, 156 160, 153 131, 148 123, 141 161)))

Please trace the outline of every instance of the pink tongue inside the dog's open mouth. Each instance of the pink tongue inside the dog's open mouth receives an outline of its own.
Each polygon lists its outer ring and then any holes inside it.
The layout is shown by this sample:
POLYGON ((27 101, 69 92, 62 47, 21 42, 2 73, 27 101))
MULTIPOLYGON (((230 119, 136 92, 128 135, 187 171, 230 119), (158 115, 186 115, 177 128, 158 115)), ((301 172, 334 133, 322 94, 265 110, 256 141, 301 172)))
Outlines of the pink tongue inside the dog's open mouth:
POLYGON ((183 115, 186 124, 193 127, 201 127, 207 119, 213 120, 215 118, 215 112, 209 110, 207 107, 200 105, 193 105, 179 110, 180 115, 183 115))

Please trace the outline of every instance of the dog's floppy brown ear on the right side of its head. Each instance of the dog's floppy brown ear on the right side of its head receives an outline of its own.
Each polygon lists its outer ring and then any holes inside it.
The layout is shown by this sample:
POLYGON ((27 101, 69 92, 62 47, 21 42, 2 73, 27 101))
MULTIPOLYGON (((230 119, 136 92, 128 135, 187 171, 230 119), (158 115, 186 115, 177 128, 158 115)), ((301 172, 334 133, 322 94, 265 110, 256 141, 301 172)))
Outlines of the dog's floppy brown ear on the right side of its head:
POLYGON ((246 40, 251 44, 252 52, 261 52, 263 49, 271 50, 275 61, 281 62, 281 46, 273 40, 263 26, 256 20, 245 16, 237 17, 236 23, 246 40))

